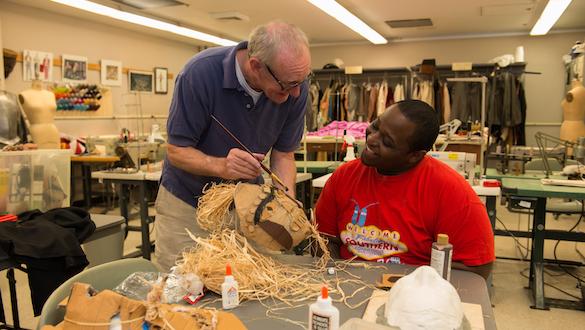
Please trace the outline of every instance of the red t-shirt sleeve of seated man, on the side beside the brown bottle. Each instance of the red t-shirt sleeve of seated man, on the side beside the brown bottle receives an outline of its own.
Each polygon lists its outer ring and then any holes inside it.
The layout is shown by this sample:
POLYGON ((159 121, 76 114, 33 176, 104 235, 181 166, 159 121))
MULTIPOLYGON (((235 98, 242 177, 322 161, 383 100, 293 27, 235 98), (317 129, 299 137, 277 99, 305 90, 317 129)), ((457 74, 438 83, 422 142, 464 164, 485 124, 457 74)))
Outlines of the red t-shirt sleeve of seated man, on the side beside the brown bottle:
POLYGON ((435 237, 449 235, 453 261, 480 266, 495 260, 494 234, 485 205, 467 186, 444 190, 435 237))

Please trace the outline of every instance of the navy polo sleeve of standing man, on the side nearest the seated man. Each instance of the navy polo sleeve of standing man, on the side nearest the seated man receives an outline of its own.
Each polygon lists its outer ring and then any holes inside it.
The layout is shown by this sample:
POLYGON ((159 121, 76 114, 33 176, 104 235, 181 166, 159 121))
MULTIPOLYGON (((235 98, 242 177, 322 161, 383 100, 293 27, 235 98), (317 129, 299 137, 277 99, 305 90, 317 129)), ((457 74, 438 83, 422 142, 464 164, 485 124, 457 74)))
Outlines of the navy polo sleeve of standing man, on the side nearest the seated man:
POLYGON ((305 82, 302 85, 301 94, 291 103, 289 114, 274 144, 274 149, 281 152, 290 152, 298 149, 305 129, 305 111, 307 108, 308 94, 308 82, 305 82))

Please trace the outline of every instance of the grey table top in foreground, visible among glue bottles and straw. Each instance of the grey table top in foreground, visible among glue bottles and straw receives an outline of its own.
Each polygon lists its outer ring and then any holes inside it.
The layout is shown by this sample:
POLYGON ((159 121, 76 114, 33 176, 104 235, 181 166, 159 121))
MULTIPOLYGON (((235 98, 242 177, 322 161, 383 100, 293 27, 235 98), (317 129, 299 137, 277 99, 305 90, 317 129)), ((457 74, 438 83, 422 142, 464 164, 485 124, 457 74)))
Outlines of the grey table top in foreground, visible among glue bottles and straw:
MULTIPOLYGON (((280 257, 279 257, 280 259, 280 257)), ((294 263, 294 264, 308 264, 310 262, 310 257, 300 257, 300 256, 286 256, 283 262, 286 263, 294 263)), ((373 263, 372 263, 373 264, 373 263)), ((382 268, 373 268, 373 269, 364 269, 362 267, 348 267, 347 270, 355 276, 358 276, 361 280, 366 283, 374 284, 376 281, 380 280, 381 275, 383 273, 392 273, 392 274, 408 274, 412 272, 415 267, 413 266, 406 266, 406 265, 388 265, 388 264, 373 264, 383 266, 382 268)), ((349 279, 349 275, 338 272, 336 275, 331 276, 338 276, 341 279, 349 279)), ((484 279, 471 272, 466 271, 459 271, 453 270, 451 272, 451 284, 457 289, 459 296, 461 297, 462 302, 472 303, 481 305, 482 313, 483 313, 483 320, 485 329, 496 329, 495 318, 489 298, 489 293, 487 290, 487 285, 484 279)), ((352 294, 355 290, 359 287, 355 284, 348 284, 342 283, 342 288, 346 292, 346 294, 352 294)), ((348 302, 350 304, 357 304, 359 302, 364 301, 367 299, 372 293, 371 289, 365 289, 357 292, 355 296, 350 299, 348 302)), ((339 296, 332 294, 332 299, 338 299, 339 296)), ((211 297, 216 298, 217 295, 212 294, 211 297)), ((206 298, 207 299, 207 298, 206 298)), ((296 308, 285 308, 278 311, 278 317, 286 318, 294 321, 304 322, 305 325, 308 320, 308 311, 309 305, 312 304, 314 301, 310 299, 305 302, 301 302, 301 306, 296 308)), ((220 307, 221 303, 212 304, 212 306, 220 307)), ((299 329, 298 325, 292 324, 290 322, 286 322, 282 319, 275 319, 269 318, 266 316, 267 306, 274 306, 274 302, 269 300, 265 300, 262 303, 258 301, 245 301, 237 308, 231 310, 230 312, 237 315, 242 322, 249 328, 249 329, 299 329)), ((367 303, 357 307, 355 309, 350 309, 342 302, 334 302, 335 307, 339 309, 340 315, 340 325, 349 320, 350 318, 357 317, 361 318, 363 313, 366 309, 367 303)), ((279 305, 282 307, 282 304, 279 305)), ((221 307, 220 307, 221 308, 221 307)), ((272 313, 274 314, 274 313, 272 313)))

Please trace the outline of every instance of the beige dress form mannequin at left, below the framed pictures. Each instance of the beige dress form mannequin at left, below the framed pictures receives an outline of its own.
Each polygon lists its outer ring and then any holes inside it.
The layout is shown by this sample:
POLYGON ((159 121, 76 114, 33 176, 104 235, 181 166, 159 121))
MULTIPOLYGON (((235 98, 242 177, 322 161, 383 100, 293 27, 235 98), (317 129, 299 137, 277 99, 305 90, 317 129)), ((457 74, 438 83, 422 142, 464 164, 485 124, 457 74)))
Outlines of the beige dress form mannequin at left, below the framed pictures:
POLYGON ((59 149, 61 138, 53 120, 57 109, 55 94, 42 87, 40 81, 33 81, 30 89, 18 95, 18 100, 28 117, 30 134, 38 148, 59 149))

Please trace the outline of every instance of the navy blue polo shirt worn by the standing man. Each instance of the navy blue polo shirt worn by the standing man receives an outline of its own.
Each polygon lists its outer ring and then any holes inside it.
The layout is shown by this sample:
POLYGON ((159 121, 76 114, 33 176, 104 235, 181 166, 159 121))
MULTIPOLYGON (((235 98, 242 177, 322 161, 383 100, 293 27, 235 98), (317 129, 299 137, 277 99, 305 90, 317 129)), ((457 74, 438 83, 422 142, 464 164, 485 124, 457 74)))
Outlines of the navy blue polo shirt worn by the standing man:
MULTIPOLYGON (((276 104, 264 94, 254 100, 238 82, 236 52, 248 46, 241 42, 231 47, 206 49, 183 68, 175 81, 175 92, 167 122, 168 142, 193 147, 215 157, 225 157, 240 148, 217 124, 221 121, 252 152, 266 154, 271 148, 282 152, 298 148, 304 129, 308 83, 301 94, 276 104)), ((261 177, 255 182, 260 182, 261 177)), ((161 184, 173 195, 196 206, 203 187, 221 178, 193 175, 164 163, 161 184)))

